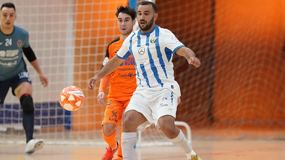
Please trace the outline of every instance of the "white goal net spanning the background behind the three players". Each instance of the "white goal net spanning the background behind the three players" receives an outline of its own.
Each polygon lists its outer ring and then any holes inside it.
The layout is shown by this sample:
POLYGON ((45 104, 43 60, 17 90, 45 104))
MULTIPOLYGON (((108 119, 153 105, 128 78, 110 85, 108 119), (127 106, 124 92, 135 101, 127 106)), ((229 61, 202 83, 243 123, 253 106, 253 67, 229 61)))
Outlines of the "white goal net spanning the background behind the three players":
MULTIPOLYGON (((15 25, 29 32, 30 45, 49 79, 43 88, 26 61, 35 103, 34 137, 50 144, 105 145, 101 127, 105 106, 96 100, 99 83, 94 92, 86 89, 86 83, 100 70, 107 45, 120 35, 116 7, 129 1, 9 2, 16 7, 15 25), (74 112, 58 103, 61 90, 69 85, 85 95, 83 106, 74 112)), ((172 31, 201 60, 200 68, 181 56, 172 60, 182 95, 176 121, 189 124, 192 139, 285 138, 285 2, 155 3, 156 24, 172 31)), ((21 115, 19 100, 10 90, 0 109, 0 143, 25 143, 21 115)), ((142 132, 141 141, 167 138, 150 127, 142 132)))

